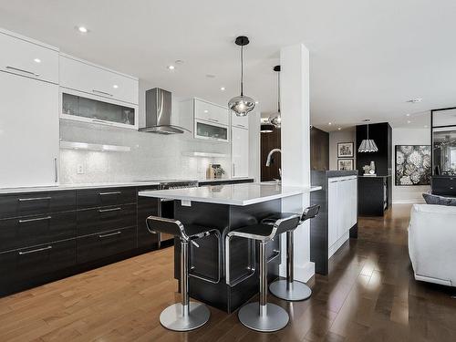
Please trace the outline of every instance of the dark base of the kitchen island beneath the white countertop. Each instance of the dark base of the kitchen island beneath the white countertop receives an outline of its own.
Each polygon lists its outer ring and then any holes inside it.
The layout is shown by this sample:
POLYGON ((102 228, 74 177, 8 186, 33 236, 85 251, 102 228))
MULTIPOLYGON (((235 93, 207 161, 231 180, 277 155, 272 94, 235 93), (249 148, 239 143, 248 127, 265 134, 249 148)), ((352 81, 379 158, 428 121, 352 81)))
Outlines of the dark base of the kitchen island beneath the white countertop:
MULTIPOLYGON (((281 201, 274 200, 247 206, 192 202, 192 206, 182 206, 181 201, 174 201, 174 217, 185 223, 200 224, 220 232, 220 239, 215 234, 196 240, 199 245, 191 245, 190 295, 207 305, 217 307, 228 313, 242 306, 258 293, 258 244, 255 244, 255 258, 251 261, 250 246, 247 239, 233 238, 231 241, 230 271, 231 279, 251 276, 239 284, 226 284, 224 239, 233 229, 258 223, 274 212, 281 212, 281 201), (219 263, 220 260, 220 263, 219 263), (254 267, 254 273, 252 268, 254 267), (202 278, 205 278, 203 280, 202 278)), ((280 238, 268 244, 268 281, 273 281, 279 272, 280 238)), ((174 276, 180 278, 180 244, 174 248, 174 276)))

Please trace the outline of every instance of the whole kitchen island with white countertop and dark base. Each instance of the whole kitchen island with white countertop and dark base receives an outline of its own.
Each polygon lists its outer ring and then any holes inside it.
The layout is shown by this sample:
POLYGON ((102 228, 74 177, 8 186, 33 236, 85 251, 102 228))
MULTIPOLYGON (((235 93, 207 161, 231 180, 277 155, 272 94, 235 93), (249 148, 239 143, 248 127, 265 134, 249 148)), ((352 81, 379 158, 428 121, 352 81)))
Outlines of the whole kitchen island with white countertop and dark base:
MULTIPOLYGON (((274 183, 244 183, 199 188, 140 192, 140 196, 174 200, 174 218, 199 224, 216 233, 191 244, 190 295, 226 312, 242 306, 258 292, 258 251, 253 242, 233 238, 230 260, 225 260, 224 239, 228 232, 259 223, 281 212, 282 199, 302 196, 320 187, 289 187, 274 183), (228 265, 228 266, 227 266, 228 265), (226 281, 229 267, 230 285, 226 281)), ((180 244, 174 249, 174 276, 180 276, 180 244)), ((268 281, 278 275, 281 259, 280 237, 267 246, 268 281)))

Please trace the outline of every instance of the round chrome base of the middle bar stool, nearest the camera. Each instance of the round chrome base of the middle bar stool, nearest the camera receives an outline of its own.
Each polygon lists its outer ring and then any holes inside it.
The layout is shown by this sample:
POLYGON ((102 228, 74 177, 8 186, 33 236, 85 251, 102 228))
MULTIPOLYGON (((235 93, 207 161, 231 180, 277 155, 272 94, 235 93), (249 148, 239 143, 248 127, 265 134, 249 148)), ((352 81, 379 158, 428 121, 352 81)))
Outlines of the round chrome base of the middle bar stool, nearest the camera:
POLYGON ((264 333, 280 330, 288 324, 290 318, 282 307, 271 303, 265 306, 266 316, 260 316, 258 302, 249 303, 241 307, 237 316, 244 326, 264 333))

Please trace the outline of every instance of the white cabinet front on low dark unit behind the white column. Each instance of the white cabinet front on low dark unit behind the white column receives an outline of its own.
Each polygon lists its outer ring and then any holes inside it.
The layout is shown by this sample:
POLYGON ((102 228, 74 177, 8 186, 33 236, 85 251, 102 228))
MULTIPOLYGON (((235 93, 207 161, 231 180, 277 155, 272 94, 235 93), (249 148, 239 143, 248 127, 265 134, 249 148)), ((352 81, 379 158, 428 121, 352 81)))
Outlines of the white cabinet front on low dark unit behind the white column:
POLYGON ((357 176, 329 178, 327 188, 327 247, 330 258, 348 240, 350 228, 358 221, 357 176))

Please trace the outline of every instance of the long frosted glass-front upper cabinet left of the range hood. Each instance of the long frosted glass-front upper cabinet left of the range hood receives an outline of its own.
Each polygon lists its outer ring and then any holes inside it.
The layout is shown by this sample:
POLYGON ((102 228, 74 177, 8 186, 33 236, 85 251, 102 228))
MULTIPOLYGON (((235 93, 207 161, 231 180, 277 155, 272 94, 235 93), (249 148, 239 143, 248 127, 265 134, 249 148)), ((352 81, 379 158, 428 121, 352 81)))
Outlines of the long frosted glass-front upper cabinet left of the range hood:
POLYGON ((138 107, 134 105, 117 101, 109 103, 67 92, 62 92, 61 104, 62 119, 138 129, 138 107))

